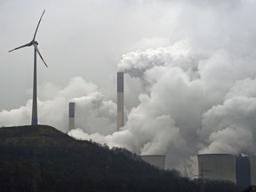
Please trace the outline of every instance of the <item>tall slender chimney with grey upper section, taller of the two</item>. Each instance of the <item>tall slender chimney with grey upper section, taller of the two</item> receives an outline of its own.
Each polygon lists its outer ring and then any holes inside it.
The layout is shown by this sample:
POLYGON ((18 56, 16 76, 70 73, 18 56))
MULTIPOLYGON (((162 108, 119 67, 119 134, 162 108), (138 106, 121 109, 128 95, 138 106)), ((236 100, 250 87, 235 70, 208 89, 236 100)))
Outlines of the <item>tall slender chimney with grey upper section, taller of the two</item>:
POLYGON ((124 126, 124 72, 117 72, 117 132, 124 126))

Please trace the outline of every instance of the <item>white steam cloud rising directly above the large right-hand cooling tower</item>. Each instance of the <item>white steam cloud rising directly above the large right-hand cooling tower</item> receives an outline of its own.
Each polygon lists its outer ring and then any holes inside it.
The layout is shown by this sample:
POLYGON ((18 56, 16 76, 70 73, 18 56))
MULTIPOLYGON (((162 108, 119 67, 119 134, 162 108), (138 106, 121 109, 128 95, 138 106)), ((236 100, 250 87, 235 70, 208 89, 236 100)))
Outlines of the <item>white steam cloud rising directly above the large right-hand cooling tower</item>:
POLYGON ((198 133, 206 148, 200 153, 255 154, 256 98, 253 83, 255 79, 250 78, 237 81, 223 104, 204 114, 203 128, 198 133))

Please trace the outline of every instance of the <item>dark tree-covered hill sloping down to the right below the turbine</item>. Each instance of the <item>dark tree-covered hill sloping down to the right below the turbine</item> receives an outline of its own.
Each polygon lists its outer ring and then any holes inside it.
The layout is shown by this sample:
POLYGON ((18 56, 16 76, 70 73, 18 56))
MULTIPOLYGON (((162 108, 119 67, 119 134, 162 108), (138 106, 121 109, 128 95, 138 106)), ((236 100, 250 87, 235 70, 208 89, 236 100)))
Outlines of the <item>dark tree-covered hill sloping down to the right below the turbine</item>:
MULTIPOLYGON (((75 140, 51 126, 0 128, 0 191, 198 192, 201 182, 144 163, 124 148, 75 140)), ((236 192, 207 181, 207 192, 236 192)))

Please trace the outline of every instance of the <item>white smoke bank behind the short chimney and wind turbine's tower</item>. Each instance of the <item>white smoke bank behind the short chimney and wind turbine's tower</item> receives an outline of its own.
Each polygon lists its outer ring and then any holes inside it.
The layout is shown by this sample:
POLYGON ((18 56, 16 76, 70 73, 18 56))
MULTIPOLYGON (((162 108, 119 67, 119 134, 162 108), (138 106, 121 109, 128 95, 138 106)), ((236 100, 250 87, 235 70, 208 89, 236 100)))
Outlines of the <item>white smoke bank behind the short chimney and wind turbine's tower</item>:
MULTIPOLYGON (((108 134, 115 130, 116 103, 106 100, 95 84, 86 82, 81 76, 69 81, 66 87, 44 84, 39 87, 39 124, 51 124, 62 132, 68 132, 68 102, 76 102, 76 126, 84 132, 108 134), (42 93, 41 93, 42 92, 42 93)), ((30 124, 32 101, 25 106, 0 113, 0 124, 12 126, 30 124)))

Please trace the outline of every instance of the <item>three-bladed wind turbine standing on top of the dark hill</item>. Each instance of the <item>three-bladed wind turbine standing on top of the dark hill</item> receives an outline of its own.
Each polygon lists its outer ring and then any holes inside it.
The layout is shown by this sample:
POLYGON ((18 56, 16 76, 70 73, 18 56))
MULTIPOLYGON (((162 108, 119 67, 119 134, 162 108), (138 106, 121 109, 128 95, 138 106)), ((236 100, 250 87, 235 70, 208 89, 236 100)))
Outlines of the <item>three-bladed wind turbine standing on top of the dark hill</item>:
MULTIPOLYGON (((45 12, 45 10, 44 10, 44 12, 45 12)), ((40 25, 40 22, 41 22, 42 18, 43 18, 44 12, 42 13, 40 20, 38 21, 38 24, 36 26, 36 31, 35 31, 35 34, 33 36, 32 41, 28 44, 21 45, 19 47, 16 47, 15 49, 12 49, 12 50, 9 51, 9 52, 12 52, 14 50, 18 50, 20 48, 31 46, 31 45, 34 46, 34 79, 33 79, 33 101, 32 101, 32 120, 31 120, 32 125, 38 124, 38 121, 37 121, 37 88, 36 88, 37 87, 37 84, 36 84, 36 52, 40 56, 41 60, 43 60, 44 65, 46 66, 46 68, 48 68, 48 66, 46 65, 46 63, 45 63, 45 61, 44 61, 44 59, 41 55, 41 53, 39 52, 39 50, 37 48, 38 43, 35 40, 37 29, 40 25)))

